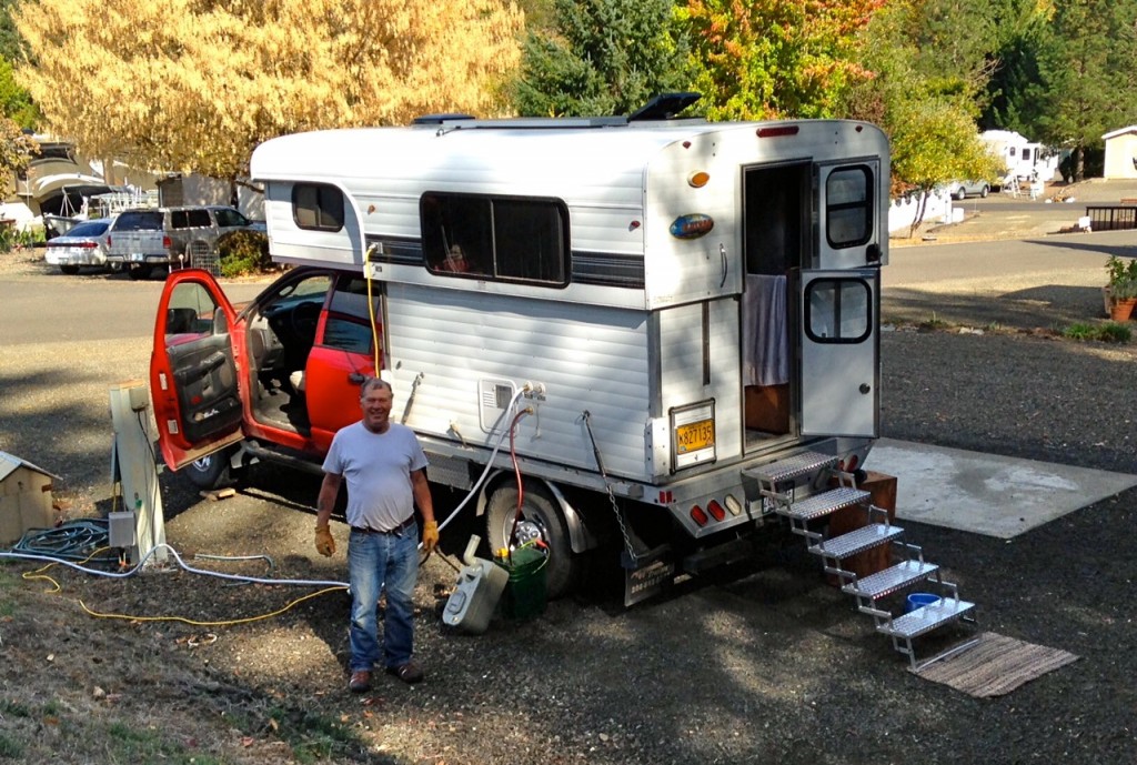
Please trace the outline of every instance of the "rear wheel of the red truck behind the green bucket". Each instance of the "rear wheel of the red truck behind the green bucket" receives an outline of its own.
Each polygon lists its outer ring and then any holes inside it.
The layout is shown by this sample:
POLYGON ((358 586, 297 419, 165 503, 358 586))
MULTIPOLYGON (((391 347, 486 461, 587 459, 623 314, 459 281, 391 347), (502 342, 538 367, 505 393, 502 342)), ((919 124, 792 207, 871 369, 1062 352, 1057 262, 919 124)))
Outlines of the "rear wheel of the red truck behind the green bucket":
MULTIPOLYGON (((493 491, 485 510, 485 537, 490 550, 508 547, 516 510, 515 484, 504 484, 493 491)), ((580 568, 580 560, 568 541, 568 526, 543 487, 525 484, 521 521, 517 522, 517 543, 532 539, 540 539, 548 547, 546 589, 549 599, 566 594, 573 589, 580 568)))

